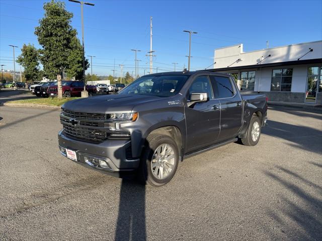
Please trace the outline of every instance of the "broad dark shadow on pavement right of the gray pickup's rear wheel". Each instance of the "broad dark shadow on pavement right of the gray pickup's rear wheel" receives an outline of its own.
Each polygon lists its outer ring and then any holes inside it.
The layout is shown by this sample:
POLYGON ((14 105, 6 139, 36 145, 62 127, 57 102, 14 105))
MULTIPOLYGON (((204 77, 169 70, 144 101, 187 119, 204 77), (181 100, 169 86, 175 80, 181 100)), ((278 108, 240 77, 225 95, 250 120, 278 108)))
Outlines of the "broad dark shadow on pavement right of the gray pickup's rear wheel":
POLYGON ((288 144, 294 148, 322 153, 322 131, 306 126, 295 126, 276 121, 267 121, 262 133, 292 142, 288 144))

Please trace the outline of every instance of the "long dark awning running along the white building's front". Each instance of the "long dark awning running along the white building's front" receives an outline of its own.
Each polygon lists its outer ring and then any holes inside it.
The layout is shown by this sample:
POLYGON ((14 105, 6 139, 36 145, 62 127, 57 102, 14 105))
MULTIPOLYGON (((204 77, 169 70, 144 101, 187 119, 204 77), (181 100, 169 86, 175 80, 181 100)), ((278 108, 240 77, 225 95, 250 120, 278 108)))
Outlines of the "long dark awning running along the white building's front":
POLYGON ((269 63, 269 64, 254 64, 254 65, 245 65, 245 66, 236 66, 236 67, 207 69, 207 71, 221 72, 221 71, 227 71, 227 70, 229 71, 229 70, 254 69, 254 68, 274 67, 274 66, 283 66, 283 65, 321 64, 321 63, 322 63, 322 59, 304 59, 304 60, 286 61, 286 62, 278 62, 278 63, 269 63))

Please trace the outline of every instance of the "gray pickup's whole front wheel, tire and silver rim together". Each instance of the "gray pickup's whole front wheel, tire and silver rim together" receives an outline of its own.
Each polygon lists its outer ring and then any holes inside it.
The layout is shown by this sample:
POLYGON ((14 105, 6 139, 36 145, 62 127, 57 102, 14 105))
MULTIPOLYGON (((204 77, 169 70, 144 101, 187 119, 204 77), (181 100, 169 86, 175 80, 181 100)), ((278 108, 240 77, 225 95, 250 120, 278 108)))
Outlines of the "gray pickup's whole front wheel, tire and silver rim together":
POLYGON ((163 186, 174 177, 179 151, 174 140, 166 135, 152 134, 146 139, 141 156, 139 178, 150 186, 163 186))

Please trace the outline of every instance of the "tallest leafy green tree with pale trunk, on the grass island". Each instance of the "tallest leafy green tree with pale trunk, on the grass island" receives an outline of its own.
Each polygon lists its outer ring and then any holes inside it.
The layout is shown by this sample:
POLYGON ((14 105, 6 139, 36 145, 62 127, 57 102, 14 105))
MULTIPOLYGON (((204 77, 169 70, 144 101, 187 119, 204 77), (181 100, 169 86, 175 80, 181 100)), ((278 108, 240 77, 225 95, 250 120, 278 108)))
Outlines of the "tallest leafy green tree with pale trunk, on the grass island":
POLYGON ((58 97, 61 98, 62 72, 66 71, 70 75, 78 73, 79 70, 79 41, 75 40, 77 32, 70 25, 73 15, 65 10, 63 2, 51 0, 44 4, 44 10, 45 15, 39 20, 40 25, 35 29, 35 35, 42 46, 39 50, 40 61, 45 75, 49 79, 57 78, 58 97), (76 60, 71 61, 70 55, 76 56, 76 60))

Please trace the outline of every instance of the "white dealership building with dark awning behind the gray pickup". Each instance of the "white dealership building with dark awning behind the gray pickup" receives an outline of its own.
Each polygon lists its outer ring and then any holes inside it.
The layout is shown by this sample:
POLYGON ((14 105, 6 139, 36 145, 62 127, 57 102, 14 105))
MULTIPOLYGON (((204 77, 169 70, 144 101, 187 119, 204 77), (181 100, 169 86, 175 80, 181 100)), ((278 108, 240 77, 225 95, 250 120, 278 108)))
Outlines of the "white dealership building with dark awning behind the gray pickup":
POLYGON ((322 41, 244 52, 243 44, 215 49, 211 71, 235 74, 241 91, 272 101, 322 104, 322 41))

